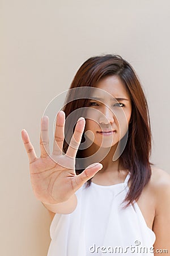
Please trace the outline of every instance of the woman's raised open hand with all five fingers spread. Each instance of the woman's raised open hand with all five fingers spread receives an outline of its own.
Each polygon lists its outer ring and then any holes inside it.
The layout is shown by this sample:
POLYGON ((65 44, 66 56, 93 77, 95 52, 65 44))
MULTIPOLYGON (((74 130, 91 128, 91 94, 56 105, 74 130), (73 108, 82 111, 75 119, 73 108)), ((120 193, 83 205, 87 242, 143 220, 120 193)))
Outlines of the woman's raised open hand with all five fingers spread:
POLYGON ((60 111, 56 120, 53 152, 49 152, 49 119, 41 119, 40 150, 37 158, 27 131, 22 130, 22 139, 29 158, 29 171, 33 192, 38 200, 47 204, 67 201, 88 179, 103 167, 100 163, 88 166, 81 174, 75 173, 75 156, 85 126, 85 119, 79 118, 73 137, 65 155, 62 154, 65 128, 65 113, 60 111))

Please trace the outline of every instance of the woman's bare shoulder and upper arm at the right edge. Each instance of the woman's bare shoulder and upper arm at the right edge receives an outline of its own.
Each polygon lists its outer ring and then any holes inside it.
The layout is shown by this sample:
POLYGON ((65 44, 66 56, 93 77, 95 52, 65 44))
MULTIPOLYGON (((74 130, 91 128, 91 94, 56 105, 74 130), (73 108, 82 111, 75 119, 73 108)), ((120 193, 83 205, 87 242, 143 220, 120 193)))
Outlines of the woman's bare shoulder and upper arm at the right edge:
POLYGON ((150 183, 154 191, 152 195, 155 202, 155 217, 152 226, 156 236, 154 249, 164 248, 170 251, 170 175, 160 168, 152 167, 150 183))

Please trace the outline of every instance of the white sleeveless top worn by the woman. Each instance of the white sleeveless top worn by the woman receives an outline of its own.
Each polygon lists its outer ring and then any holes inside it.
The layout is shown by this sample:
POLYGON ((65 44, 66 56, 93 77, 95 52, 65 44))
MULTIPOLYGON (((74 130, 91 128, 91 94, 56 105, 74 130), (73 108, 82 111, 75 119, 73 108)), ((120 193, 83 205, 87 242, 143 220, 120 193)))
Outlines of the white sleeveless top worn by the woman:
POLYGON ((83 185, 73 213, 56 213, 50 225, 48 256, 154 255, 155 233, 138 204, 122 209, 129 190, 124 183, 83 185))

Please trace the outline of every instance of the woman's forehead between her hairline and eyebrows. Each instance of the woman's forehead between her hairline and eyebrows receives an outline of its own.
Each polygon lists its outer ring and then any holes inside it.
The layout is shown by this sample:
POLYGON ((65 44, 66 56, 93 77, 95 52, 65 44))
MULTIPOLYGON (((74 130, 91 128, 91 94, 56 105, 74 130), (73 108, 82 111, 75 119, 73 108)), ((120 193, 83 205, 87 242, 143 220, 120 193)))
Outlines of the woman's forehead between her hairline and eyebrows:
POLYGON ((111 98, 130 98, 126 86, 118 76, 113 75, 104 77, 95 84, 95 88, 101 90, 94 90, 92 93, 92 96, 94 97, 109 97, 109 94, 111 94, 111 98), (106 93, 104 93, 104 91, 106 93))

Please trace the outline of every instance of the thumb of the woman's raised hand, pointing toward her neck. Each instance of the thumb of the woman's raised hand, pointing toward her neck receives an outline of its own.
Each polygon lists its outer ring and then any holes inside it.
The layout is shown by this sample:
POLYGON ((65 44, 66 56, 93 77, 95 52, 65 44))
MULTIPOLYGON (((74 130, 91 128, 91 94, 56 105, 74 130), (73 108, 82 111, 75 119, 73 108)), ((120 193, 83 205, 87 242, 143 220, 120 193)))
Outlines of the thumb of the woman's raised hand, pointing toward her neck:
POLYGON ((76 184, 76 190, 89 179, 91 179, 98 171, 100 171, 103 168, 103 165, 101 163, 94 163, 88 166, 81 174, 75 176, 75 184, 76 184))

